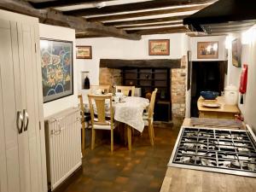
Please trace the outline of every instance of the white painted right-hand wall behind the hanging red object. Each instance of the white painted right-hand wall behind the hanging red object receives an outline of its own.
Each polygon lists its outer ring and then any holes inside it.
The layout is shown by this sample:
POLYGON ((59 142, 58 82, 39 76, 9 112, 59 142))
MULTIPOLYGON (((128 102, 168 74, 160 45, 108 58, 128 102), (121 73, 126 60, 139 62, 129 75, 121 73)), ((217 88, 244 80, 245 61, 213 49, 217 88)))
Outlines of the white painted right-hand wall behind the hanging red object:
MULTIPOLYGON (((232 39, 239 36, 233 36, 232 39)), ((238 101, 238 106, 241 113, 244 115, 245 122, 251 125, 256 131, 256 29, 253 28, 249 34, 249 44, 242 44, 241 49, 241 64, 248 65, 247 93, 244 96, 244 104, 241 105, 238 101)), ((241 67, 232 65, 232 50, 229 49, 229 67, 228 67, 228 84, 234 84, 239 87, 241 76, 241 67)))

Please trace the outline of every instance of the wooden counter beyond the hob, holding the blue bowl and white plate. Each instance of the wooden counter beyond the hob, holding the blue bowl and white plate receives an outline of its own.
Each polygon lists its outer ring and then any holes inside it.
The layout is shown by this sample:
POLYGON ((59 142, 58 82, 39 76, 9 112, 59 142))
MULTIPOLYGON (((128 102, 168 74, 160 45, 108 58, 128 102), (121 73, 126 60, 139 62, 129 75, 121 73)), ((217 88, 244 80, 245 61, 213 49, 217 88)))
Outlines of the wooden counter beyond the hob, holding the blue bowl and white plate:
POLYGON ((204 98, 200 96, 197 101, 197 108, 200 118, 235 119, 235 115, 240 113, 236 105, 225 104, 224 96, 218 96, 216 100, 204 100, 204 98), (206 108, 202 106, 203 102, 218 103, 221 106, 220 108, 206 108))

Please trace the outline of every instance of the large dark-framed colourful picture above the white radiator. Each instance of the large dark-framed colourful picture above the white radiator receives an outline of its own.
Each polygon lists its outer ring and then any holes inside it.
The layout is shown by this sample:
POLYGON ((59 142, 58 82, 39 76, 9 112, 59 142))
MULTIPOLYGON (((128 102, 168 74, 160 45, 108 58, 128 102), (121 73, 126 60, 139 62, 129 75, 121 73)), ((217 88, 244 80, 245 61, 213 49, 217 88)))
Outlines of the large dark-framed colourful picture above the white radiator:
POLYGON ((73 42, 41 39, 44 102, 73 95, 73 42))

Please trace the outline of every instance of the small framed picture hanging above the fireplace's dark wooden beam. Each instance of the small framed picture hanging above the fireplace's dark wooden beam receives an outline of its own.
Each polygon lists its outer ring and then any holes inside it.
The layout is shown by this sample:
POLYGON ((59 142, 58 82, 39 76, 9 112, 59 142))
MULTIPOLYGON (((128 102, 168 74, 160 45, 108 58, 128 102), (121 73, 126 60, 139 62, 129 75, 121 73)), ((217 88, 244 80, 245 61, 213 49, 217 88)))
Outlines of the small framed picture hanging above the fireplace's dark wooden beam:
POLYGON ((170 40, 169 39, 149 40, 148 55, 170 55, 170 40))

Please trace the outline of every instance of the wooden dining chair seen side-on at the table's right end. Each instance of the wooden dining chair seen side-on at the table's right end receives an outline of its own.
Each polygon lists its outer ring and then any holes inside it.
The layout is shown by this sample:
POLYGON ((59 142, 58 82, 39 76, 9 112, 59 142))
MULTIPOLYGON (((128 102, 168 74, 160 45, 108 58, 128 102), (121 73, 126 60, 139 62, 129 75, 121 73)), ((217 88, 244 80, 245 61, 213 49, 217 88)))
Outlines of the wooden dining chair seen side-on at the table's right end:
POLYGON ((155 96, 156 96, 157 88, 154 89, 152 92, 150 103, 148 106, 148 111, 146 113, 143 113, 143 120, 145 126, 148 126, 148 135, 149 140, 152 146, 154 146, 154 102, 155 102, 155 96))

